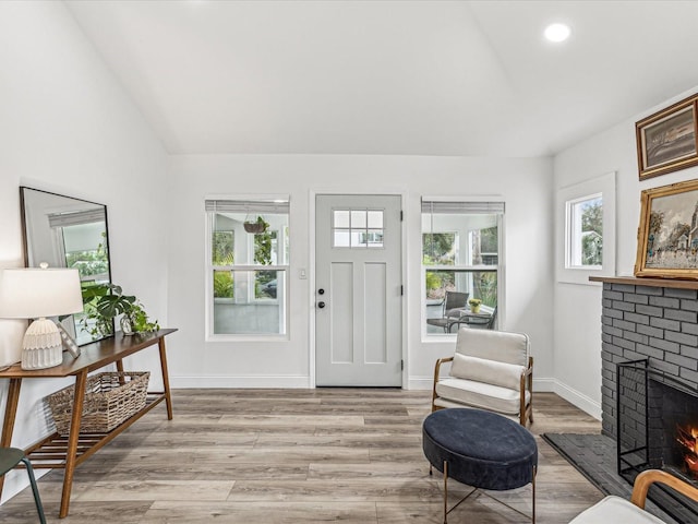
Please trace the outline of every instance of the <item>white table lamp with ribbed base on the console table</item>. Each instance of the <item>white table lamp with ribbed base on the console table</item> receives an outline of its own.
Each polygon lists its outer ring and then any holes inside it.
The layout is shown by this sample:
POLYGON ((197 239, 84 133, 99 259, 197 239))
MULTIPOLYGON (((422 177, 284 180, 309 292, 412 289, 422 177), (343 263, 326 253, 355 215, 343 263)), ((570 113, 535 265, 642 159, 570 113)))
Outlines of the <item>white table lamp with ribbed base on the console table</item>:
POLYGON ((79 313, 83 298, 77 270, 5 269, 0 275, 0 318, 36 319, 22 342, 22 369, 52 368, 63 361, 61 334, 48 317, 79 313))

